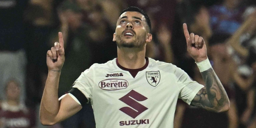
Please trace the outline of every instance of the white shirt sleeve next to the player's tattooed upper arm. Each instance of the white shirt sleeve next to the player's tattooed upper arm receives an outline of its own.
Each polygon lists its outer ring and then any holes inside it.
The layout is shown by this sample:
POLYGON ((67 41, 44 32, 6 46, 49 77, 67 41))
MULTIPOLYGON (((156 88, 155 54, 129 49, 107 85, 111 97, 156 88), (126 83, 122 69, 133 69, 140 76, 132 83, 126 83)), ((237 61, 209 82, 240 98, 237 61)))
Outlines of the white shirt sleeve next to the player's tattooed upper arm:
POLYGON ((175 70, 177 86, 180 89, 179 98, 190 105, 198 91, 204 86, 193 81, 188 74, 180 68, 175 70))

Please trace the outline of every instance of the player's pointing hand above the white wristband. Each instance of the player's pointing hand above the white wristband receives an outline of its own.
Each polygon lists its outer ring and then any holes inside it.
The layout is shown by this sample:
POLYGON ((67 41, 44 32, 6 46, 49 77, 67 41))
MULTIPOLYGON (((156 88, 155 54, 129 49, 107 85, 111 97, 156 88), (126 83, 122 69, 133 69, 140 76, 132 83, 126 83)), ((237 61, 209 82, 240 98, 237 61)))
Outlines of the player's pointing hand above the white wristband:
POLYGON ((187 41, 187 51, 196 62, 207 59, 207 49, 202 37, 190 33, 187 30, 187 24, 183 24, 184 35, 187 41))

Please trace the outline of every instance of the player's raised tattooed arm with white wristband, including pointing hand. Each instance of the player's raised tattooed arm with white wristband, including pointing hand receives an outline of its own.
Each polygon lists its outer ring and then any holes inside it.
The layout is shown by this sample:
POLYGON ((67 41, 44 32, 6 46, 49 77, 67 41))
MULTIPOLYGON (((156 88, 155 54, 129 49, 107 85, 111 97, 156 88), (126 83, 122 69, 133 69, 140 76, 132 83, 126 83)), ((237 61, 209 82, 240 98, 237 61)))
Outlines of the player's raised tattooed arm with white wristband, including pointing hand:
POLYGON ((210 64, 203 38, 194 33, 189 34, 186 24, 183 24, 183 30, 187 51, 196 61, 205 83, 205 87, 198 91, 191 105, 214 112, 228 111, 230 107, 228 95, 210 64))

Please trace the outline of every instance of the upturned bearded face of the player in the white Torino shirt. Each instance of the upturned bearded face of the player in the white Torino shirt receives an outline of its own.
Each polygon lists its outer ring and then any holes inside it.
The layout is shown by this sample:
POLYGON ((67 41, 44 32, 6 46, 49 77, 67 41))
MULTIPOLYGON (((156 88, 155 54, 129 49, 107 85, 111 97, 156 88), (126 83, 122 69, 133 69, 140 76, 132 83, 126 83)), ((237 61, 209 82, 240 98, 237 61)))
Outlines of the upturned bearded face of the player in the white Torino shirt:
POLYGON ((119 48, 143 47, 151 39, 152 35, 148 33, 146 19, 141 13, 124 12, 120 15, 113 37, 119 48))

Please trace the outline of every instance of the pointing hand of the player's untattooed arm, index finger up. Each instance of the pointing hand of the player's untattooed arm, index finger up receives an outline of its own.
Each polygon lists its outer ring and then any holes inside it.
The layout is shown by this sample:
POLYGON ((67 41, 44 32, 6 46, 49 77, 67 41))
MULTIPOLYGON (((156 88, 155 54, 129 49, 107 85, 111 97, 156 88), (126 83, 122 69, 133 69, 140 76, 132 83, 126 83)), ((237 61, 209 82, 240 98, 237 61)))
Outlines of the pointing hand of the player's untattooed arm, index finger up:
POLYGON ((62 33, 59 32, 59 43, 55 42, 54 47, 47 51, 46 63, 48 71, 61 71, 61 68, 65 61, 64 56, 64 42, 62 33))

